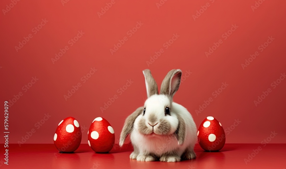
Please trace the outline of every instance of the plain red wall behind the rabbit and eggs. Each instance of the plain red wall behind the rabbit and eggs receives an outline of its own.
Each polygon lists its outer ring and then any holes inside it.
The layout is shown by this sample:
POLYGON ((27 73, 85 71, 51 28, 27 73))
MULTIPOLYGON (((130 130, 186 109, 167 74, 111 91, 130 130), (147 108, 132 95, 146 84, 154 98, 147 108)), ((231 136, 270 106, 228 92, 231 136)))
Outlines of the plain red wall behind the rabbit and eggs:
MULTIPOLYGON (((159 88, 171 69, 192 72, 174 101, 190 111, 197 126, 206 116, 214 116, 226 130, 239 119, 241 122, 226 133, 226 143, 261 143, 273 131, 278 134, 271 143, 285 143, 286 80, 275 89, 271 83, 286 69, 286 2, 264 1, 254 11, 254 0, 166 1, 158 9, 159 2, 115 1, 100 18, 98 12, 110 1, 69 1, 64 5, 60 0, 19 1, 5 15, 1 13, 1 102, 23 92, 9 108, 9 143, 21 141, 32 129, 35 133, 25 143, 53 143, 57 124, 68 116, 86 128, 94 118, 106 118, 118 143, 125 118, 146 99, 143 69, 151 70, 159 88), (206 3, 210 6, 194 20, 192 15, 206 3), (48 22, 33 34, 42 19, 48 22), (127 32, 140 21, 143 25, 128 37, 127 32), (222 34, 235 24, 238 28, 223 39, 222 34), (78 31, 84 35, 69 46, 78 31), (33 37, 17 52, 15 46, 30 33, 33 37), (180 37, 165 49, 163 44, 176 33, 180 37), (125 36, 128 40, 112 55, 110 49, 125 36), (275 40, 260 52, 258 47, 269 36, 275 40), (208 48, 220 39, 223 43, 206 57, 208 48), (51 58, 66 45, 69 50, 53 64, 51 58), (161 48, 164 53, 148 66, 146 61, 161 48), (259 56, 243 69, 241 64, 256 51, 259 56), (97 71, 82 83, 80 79, 90 68, 97 71), (32 77, 39 80, 24 92, 22 87, 32 77), (117 90, 129 79, 134 83, 119 95, 117 90), (224 82, 229 86, 214 98, 212 92, 224 82), (77 83, 82 86, 65 100, 64 95, 77 83), (272 92, 255 106, 254 100, 267 88, 272 92), (100 107, 115 94, 118 98, 102 112, 100 107), (209 97, 213 101, 197 115, 195 110, 209 97), (36 128, 35 123, 47 113, 51 117, 36 128)), ((1 1, 1 9, 10 3, 1 1)), ((87 134, 82 143, 87 143, 87 134)))

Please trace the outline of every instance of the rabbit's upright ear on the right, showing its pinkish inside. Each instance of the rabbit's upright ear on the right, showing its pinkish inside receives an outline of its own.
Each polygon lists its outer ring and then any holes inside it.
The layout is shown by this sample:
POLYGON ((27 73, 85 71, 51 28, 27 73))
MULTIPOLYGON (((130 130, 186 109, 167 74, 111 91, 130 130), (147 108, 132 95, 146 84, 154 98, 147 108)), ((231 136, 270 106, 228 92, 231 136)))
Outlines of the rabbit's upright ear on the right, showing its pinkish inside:
POLYGON ((173 98, 174 94, 180 87, 182 71, 180 69, 171 70, 164 78, 160 94, 165 94, 173 98))

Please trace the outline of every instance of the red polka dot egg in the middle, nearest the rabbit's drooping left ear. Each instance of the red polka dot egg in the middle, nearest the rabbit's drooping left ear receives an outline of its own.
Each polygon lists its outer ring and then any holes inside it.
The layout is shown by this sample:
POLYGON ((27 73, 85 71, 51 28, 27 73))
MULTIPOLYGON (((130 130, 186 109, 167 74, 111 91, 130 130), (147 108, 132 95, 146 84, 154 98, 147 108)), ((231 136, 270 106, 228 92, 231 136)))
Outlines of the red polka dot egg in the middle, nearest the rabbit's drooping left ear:
POLYGON ((107 120, 97 117, 88 130, 88 145, 98 153, 109 152, 115 141, 114 130, 107 120))

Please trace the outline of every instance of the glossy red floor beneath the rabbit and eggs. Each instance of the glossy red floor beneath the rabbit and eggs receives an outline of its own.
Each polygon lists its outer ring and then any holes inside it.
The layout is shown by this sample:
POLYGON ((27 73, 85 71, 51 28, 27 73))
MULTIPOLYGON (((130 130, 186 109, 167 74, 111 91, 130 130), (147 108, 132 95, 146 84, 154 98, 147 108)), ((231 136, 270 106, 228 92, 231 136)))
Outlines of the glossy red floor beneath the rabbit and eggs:
MULTIPOLYGON (((1 145, 1 154, 4 145, 1 145)), ((3 154, 0 156, 0 168, 76 168, 76 169, 104 169, 104 168, 286 168, 286 144, 226 144, 220 152, 204 152, 198 145, 195 148, 197 158, 176 163, 167 162, 138 162, 130 160, 132 147, 115 148, 109 154, 97 154, 88 144, 81 144, 72 154, 58 153, 53 144, 9 144, 9 166, 3 154), (262 146, 255 154, 253 150, 262 146), (245 163, 249 154, 253 159, 245 163), (1 160, 2 159, 2 160, 1 160)))

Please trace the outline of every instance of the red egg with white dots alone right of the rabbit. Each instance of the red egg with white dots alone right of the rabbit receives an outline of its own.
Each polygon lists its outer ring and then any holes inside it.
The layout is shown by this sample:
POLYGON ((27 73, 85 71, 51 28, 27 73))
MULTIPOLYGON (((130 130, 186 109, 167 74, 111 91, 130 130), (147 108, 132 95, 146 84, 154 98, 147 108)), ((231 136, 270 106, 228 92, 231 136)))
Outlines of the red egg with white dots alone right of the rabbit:
POLYGON ((212 116, 208 116, 202 121, 197 135, 200 146, 206 151, 219 151, 225 145, 223 126, 212 116))

